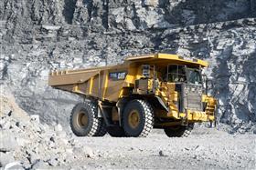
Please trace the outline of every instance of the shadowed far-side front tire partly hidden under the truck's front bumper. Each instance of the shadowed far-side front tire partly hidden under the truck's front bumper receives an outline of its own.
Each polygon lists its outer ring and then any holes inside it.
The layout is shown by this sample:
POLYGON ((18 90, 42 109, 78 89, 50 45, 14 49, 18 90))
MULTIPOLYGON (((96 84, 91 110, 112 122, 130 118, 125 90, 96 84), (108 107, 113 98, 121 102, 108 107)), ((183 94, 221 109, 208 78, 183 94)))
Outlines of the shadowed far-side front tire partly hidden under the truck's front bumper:
POLYGON ((165 135, 168 137, 187 137, 194 128, 194 124, 176 125, 175 127, 165 127, 165 135))

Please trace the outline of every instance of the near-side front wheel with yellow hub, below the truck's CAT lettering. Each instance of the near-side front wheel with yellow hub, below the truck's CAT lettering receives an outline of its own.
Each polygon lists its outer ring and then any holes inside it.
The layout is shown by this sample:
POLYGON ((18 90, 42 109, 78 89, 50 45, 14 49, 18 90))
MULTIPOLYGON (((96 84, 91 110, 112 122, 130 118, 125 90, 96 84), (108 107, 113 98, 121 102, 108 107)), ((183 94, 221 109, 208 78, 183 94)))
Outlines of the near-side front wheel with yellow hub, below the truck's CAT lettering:
MULTIPOLYGON (((133 120, 133 118, 132 118, 133 120)), ((153 129, 154 110, 144 100, 133 100, 125 105, 122 115, 123 130, 126 136, 145 137, 153 129), (134 123, 129 122, 135 114, 134 123)))

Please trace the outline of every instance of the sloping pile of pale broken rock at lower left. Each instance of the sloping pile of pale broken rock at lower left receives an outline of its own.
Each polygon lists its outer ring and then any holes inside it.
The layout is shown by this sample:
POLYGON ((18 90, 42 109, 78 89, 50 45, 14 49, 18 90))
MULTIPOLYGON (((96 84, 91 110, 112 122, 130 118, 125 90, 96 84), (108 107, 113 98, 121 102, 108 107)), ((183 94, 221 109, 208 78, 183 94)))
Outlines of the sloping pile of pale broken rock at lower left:
POLYGON ((90 147, 72 139, 61 125, 41 124, 38 115, 27 115, 13 97, 0 96, 0 167, 69 167, 70 163, 94 156, 90 147))

